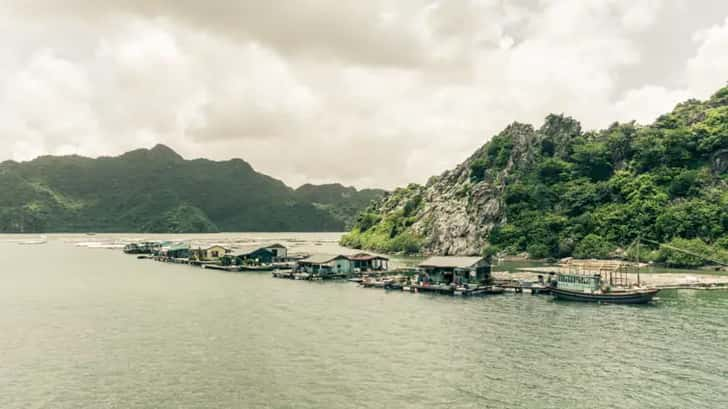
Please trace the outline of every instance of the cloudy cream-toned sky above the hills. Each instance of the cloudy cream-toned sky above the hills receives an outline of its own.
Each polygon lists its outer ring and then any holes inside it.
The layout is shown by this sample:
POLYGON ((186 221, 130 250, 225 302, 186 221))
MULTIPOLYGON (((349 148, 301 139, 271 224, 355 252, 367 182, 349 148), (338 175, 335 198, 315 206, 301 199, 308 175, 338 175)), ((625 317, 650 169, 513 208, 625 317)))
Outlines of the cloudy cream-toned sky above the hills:
POLYGON ((513 121, 650 123, 727 81, 720 0, 0 0, 0 161, 163 143, 389 189, 513 121))

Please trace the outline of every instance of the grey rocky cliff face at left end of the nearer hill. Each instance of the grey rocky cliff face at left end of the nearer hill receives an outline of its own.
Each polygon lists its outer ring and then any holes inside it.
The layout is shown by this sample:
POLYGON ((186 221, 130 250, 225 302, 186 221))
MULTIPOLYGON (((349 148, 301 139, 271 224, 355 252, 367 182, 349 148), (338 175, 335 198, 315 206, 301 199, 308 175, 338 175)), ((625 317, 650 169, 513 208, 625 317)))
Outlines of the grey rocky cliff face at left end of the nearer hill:
MULTIPOLYGON (((503 191, 508 177, 530 166, 542 142, 565 146, 563 140, 580 133, 578 122, 552 115, 536 131, 531 125, 513 123, 478 149, 455 169, 432 177, 425 186, 412 184, 376 201, 362 216, 373 216, 375 225, 359 224, 343 244, 384 251, 376 242, 356 242, 356 229, 380 231, 379 239, 405 234, 416 241, 420 252, 441 255, 480 254, 490 231, 506 222, 503 191), (390 219, 399 219, 403 222, 390 219), (392 225, 391 227, 389 225, 392 225), (384 236, 384 237, 383 237, 384 236)), ((376 235, 376 234, 375 234, 376 235)))

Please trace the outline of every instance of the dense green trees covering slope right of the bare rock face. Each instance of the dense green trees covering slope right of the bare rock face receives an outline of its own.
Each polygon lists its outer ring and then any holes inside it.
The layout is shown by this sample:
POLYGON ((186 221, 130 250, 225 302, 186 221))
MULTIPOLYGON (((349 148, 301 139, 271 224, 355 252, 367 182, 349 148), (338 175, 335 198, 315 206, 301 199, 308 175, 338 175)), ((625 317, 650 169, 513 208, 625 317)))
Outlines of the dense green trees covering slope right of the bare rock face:
MULTIPOLYGON (((509 176, 507 222, 489 237, 508 253, 532 257, 607 257, 637 237, 657 242, 700 240, 702 254, 728 237, 726 173, 728 87, 706 102, 678 105, 651 126, 614 124, 575 132, 553 149, 551 132, 573 121, 549 116, 541 149, 509 176)), ((570 129, 578 129, 576 122, 570 129)), ((679 241, 678 244, 688 242, 679 241)), ((695 243, 695 242, 689 242, 695 243)), ((688 246, 695 247, 695 246, 688 246)), ((662 261, 688 266, 674 251, 662 261)))

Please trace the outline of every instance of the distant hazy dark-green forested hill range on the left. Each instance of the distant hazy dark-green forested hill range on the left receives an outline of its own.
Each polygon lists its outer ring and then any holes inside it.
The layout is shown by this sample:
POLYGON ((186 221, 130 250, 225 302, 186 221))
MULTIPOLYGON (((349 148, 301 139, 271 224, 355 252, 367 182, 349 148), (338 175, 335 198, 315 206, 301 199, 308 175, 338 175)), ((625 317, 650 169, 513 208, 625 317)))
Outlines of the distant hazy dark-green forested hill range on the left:
POLYGON ((343 231, 377 190, 293 190, 243 160, 157 145, 0 164, 0 232, 343 231))

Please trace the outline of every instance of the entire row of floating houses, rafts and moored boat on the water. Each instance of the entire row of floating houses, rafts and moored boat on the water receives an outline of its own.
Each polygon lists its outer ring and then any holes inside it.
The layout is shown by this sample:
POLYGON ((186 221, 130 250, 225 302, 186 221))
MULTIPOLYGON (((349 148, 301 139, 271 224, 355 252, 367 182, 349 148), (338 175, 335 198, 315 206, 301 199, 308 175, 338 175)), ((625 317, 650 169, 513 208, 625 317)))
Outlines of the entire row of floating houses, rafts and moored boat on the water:
POLYGON ((687 280, 650 284, 640 263, 567 258, 546 267, 496 271, 482 256, 432 256, 415 265, 390 268, 390 259, 370 253, 293 253, 280 243, 194 246, 189 241, 126 244, 124 253, 140 260, 174 263, 224 272, 266 272, 273 278, 301 281, 345 280, 362 288, 486 296, 504 293, 549 295, 567 301, 646 304, 665 289, 728 289, 728 280, 687 280))

